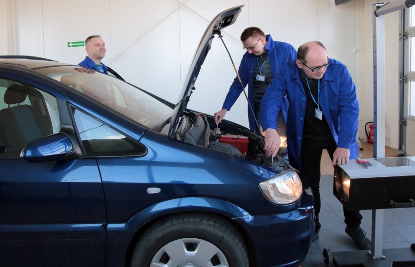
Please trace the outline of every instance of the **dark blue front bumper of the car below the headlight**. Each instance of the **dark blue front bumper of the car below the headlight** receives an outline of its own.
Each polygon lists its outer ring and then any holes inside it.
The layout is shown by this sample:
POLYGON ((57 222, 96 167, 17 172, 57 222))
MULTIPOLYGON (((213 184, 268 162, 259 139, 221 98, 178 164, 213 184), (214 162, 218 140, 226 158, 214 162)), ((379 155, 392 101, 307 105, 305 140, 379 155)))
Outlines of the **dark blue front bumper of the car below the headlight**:
POLYGON ((245 229, 249 253, 258 267, 297 267, 307 255, 316 226, 313 195, 306 190, 296 210, 234 220, 245 229))

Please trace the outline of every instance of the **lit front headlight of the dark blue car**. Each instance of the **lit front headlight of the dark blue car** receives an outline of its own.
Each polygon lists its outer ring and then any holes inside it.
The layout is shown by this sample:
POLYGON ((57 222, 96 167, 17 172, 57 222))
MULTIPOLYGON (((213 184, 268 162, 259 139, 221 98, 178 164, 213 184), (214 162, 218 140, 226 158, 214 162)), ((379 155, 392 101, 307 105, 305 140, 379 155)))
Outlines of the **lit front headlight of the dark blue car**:
POLYGON ((290 204, 302 194, 302 182, 294 170, 281 172, 259 184, 265 196, 275 204, 290 204))

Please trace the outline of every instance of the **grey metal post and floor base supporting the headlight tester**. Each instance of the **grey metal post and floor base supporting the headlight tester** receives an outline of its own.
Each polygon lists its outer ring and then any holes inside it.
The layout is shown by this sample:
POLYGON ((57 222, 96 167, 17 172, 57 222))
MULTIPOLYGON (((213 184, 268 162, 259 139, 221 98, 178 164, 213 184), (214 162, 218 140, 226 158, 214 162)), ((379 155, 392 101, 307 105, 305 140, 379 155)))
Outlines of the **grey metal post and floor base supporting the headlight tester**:
MULTIPOLYGON (((396 0, 373 5, 373 76, 374 76, 374 158, 385 156, 385 22, 387 13, 414 5, 415 0, 396 0)), ((411 248, 384 249, 383 210, 372 210, 371 251, 331 252, 323 250, 326 266, 345 267, 414 267, 415 244, 411 248)))

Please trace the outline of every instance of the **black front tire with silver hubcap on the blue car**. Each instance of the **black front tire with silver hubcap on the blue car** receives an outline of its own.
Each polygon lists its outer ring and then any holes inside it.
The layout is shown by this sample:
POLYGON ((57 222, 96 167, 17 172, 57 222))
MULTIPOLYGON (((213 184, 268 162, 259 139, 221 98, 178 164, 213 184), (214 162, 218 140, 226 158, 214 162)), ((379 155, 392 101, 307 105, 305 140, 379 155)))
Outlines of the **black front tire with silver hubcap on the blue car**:
POLYGON ((249 261, 241 233, 228 221, 211 214, 182 214, 142 234, 131 266, 248 267, 249 261))

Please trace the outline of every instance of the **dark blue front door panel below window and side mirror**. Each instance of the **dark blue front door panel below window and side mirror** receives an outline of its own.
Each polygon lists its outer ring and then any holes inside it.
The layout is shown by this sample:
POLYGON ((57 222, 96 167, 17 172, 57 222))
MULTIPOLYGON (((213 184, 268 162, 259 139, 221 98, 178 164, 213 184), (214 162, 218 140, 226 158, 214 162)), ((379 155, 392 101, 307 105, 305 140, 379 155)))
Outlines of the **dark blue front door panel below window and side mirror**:
POLYGON ((106 213, 95 160, 2 158, 0 170, 1 266, 104 265, 106 213))

